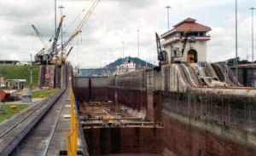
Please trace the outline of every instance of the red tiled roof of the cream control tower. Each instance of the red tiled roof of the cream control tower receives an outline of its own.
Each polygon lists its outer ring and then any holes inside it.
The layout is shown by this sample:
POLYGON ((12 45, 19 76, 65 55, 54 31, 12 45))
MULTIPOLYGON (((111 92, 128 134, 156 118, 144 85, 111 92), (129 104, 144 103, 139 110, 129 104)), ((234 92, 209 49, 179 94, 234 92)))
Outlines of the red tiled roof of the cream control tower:
POLYGON ((209 32, 211 31, 211 27, 204 26, 195 22, 195 19, 187 18, 177 25, 173 26, 177 32, 209 32))

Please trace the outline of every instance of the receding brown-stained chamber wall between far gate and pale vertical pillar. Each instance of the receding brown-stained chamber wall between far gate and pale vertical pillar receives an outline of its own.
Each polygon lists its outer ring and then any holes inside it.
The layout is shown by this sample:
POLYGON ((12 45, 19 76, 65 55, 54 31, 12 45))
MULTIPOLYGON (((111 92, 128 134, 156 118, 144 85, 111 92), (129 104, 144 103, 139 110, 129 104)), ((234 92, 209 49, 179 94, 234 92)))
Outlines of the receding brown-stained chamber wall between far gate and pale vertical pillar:
POLYGON ((129 72, 109 78, 108 97, 114 104, 142 118, 147 113, 146 72, 129 72))

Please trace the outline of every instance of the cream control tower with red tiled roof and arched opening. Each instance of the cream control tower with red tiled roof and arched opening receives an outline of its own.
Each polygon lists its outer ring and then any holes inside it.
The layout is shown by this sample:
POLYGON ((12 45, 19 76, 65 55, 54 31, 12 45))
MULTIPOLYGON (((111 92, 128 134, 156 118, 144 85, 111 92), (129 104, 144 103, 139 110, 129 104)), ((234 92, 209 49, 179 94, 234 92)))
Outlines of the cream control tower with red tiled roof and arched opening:
POLYGON ((207 41, 210 40, 208 32, 212 29, 187 18, 172 30, 161 35, 164 39, 163 47, 168 53, 168 61, 180 58, 182 62, 200 63, 207 61, 207 41))

